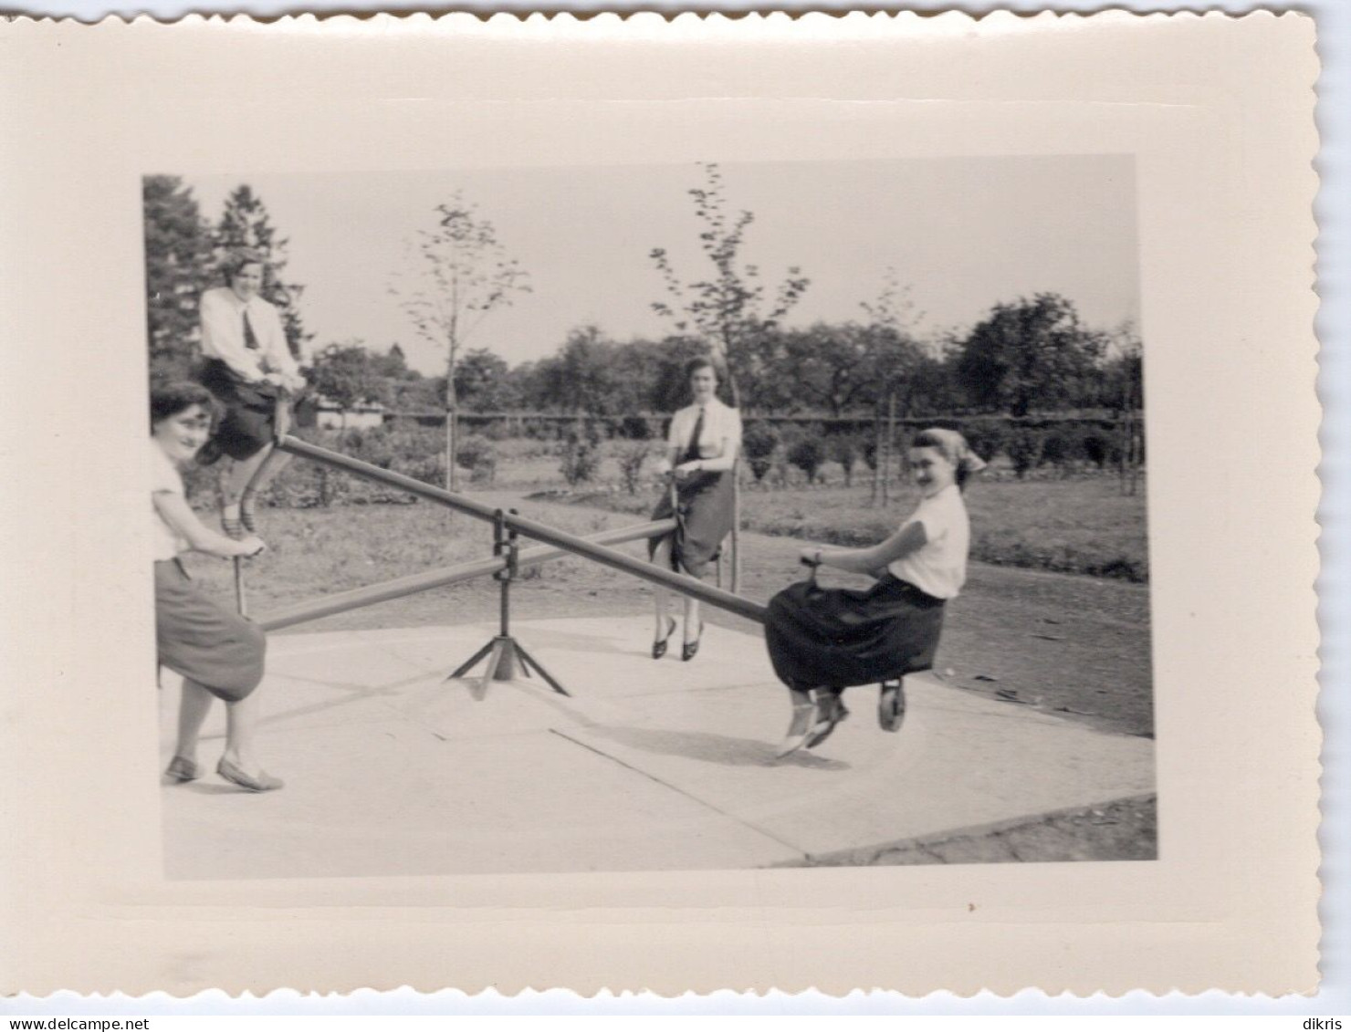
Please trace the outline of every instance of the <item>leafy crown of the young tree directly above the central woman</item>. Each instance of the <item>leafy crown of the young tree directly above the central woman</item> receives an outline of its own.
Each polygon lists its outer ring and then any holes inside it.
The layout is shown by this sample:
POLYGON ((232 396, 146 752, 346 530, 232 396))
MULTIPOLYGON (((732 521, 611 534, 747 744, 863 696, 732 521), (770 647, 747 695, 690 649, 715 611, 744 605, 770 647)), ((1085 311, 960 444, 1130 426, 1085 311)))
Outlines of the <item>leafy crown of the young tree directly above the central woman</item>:
POLYGON ((759 371, 759 339, 788 315, 811 281, 793 266, 773 301, 767 301, 759 269, 742 261, 746 230, 755 216, 748 211, 730 215, 717 165, 703 167, 705 185, 689 195, 694 199, 694 216, 704 227, 698 234, 700 247, 713 265, 713 276, 681 282, 666 249, 654 249, 650 257, 674 307, 657 301, 653 309, 671 319, 682 334, 692 331, 708 342, 727 365, 732 404, 740 407, 740 385, 759 371))

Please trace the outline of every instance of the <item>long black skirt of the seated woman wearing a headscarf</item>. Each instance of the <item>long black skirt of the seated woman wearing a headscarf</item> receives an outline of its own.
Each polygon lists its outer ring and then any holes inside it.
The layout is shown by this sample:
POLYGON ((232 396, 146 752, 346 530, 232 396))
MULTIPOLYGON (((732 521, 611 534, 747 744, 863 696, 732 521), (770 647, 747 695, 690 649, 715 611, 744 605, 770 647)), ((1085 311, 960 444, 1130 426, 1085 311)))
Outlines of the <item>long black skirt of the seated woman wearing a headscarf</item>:
POLYGON ((866 592, 800 581, 770 598, 769 658, 789 688, 852 688, 929 670, 943 600, 886 574, 866 592))

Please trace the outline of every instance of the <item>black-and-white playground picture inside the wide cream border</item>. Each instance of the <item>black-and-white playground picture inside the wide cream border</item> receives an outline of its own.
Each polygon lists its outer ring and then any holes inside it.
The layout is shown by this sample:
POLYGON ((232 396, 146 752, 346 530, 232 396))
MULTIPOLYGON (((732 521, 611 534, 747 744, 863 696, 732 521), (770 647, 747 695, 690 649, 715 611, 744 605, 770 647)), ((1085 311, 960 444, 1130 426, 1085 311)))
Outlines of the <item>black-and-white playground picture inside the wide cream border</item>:
POLYGON ((170 879, 1158 855, 1131 155, 142 185, 170 879))

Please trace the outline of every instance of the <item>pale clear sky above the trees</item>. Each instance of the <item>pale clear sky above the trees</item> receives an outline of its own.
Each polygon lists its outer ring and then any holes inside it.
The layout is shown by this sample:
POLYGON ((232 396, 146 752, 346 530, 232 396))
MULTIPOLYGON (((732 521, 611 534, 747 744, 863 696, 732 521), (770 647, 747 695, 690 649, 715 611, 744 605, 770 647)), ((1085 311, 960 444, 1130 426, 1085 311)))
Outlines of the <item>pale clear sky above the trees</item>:
MULTIPOLYGON (((723 165, 728 204, 755 213, 744 258, 777 285, 811 278, 789 324, 857 319, 894 267, 925 315, 919 331, 978 321, 997 301, 1065 294, 1102 328, 1138 319, 1133 162, 1127 155, 723 165)), ((512 365, 553 354, 586 323, 617 339, 670 326, 648 253, 666 247, 684 280, 711 266, 686 190, 696 165, 469 169, 435 173, 193 176, 203 215, 247 182, 289 238, 286 280, 304 284, 312 346, 399 342, 424 373, 444 357, 419 340, 388 286, 404 242, 432 228, 457 189, 490 219, 532 293, 482 323, 469 347, 512 365)))

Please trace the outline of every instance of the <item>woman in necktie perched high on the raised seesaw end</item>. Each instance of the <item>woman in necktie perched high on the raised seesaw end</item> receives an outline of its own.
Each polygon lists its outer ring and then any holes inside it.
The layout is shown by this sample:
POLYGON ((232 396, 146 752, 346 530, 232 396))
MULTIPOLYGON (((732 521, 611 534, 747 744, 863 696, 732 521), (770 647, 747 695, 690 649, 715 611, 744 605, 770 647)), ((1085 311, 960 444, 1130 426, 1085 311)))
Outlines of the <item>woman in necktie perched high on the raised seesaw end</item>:
POLYGON ((226 478, 220 524, 231 538, 255 534, 254 494, 281 471, 289 455, 277 455, 265 475, 246 492, 249 481, 272 453, 278 403, 286 415, 305 386, 290 355, 277 309, 258 294, 262 259, 235 251, 224 266, 227 286, 201 296, 203 385, 226 409, 215 438, 200 453, 209 465, 222 455, 235 461, 226 478))

